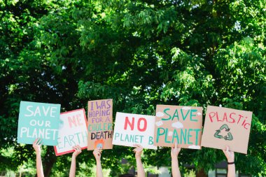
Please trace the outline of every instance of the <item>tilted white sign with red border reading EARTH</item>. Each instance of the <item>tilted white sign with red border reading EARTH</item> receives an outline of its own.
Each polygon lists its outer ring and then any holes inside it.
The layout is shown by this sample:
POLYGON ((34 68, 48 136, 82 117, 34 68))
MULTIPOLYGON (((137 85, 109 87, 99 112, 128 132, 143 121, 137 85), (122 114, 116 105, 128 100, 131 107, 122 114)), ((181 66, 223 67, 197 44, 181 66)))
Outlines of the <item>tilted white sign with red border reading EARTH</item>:
POLYGON ((87 118, 85 110, 77 109, 60 114, 60 125, 55 155, 73 153, 73 146, 87 148, 87 118))

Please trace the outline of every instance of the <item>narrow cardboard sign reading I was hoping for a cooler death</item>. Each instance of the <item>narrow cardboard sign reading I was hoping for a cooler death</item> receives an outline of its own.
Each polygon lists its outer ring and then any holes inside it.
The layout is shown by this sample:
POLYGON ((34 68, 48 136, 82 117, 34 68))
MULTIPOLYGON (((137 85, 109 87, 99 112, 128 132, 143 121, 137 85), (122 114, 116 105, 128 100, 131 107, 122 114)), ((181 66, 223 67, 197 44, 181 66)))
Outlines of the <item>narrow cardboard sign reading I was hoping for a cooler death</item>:
POLYGON ((113 99, 88 101, 87 105, 87 150, 112 149, 113 99))

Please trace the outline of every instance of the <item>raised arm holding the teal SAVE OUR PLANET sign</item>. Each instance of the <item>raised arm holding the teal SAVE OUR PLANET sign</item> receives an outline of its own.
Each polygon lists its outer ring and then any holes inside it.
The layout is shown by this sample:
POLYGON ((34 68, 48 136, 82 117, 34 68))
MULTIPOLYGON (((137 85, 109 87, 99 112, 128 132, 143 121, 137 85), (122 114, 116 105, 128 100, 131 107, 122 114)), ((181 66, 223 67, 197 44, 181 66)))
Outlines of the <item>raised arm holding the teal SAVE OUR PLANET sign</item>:
POLYGON ((36 171, 38 177, 44 177, 43 164, 41 162, 41 139, 36 139, 33 143, 34 150, 36 152, 36 171))

